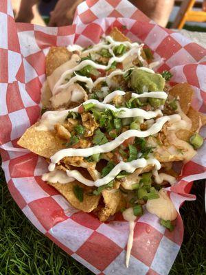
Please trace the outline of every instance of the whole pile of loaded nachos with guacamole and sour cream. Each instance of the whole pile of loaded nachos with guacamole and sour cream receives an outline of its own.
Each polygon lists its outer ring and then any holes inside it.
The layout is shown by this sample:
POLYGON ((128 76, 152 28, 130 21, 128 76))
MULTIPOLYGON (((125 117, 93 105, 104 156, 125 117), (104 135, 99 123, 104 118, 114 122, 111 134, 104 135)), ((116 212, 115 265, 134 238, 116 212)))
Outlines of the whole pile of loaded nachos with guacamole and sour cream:
POLYGON ((172 230, 177 212, 164 187, 176 183, 174 163, 203 145, 206 118, 191 107, 190 85, 171 88, 152 58, 117 28, 87 48, 52 47, 43 115, 18 144, 47 159, 43 180, 75 208, 100 221, 121 211, 130 228, 146 208, 172 230))

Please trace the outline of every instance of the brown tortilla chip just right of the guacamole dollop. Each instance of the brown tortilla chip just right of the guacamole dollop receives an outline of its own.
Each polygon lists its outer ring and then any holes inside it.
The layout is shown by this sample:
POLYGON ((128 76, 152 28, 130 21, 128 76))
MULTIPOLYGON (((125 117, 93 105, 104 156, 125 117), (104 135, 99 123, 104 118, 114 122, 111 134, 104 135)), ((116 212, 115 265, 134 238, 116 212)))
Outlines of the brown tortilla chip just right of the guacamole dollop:
POLYGON ((181 109, 187 114, 194 94, 192 87, 188 83, 179 83, 170 89, 169 94, 174 98, 179 97, 181 109))

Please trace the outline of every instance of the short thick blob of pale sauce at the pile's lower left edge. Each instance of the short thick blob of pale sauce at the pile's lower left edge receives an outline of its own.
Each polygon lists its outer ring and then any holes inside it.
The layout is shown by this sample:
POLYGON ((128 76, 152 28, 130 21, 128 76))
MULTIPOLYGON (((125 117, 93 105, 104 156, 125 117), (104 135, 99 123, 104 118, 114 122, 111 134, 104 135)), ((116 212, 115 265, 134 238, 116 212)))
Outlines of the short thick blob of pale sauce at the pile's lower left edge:
POLYGON ((65 171, 55 169, 52 172, 45 173, 42 175, 41 179, 43 181, 49 181, 52 184, 58 182, 59 184, 68 184, 75 179, 73 177, 68 177, 65 171))

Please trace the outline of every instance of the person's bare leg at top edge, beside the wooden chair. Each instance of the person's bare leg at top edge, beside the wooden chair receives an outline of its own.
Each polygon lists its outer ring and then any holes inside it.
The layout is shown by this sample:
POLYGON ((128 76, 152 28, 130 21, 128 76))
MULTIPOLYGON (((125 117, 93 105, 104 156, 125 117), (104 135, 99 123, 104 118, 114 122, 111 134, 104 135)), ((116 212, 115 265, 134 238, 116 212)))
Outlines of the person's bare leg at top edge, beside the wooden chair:
POLYGON ((167 25, 174 0, 130 0, 139 10, 159 25, 167 25))

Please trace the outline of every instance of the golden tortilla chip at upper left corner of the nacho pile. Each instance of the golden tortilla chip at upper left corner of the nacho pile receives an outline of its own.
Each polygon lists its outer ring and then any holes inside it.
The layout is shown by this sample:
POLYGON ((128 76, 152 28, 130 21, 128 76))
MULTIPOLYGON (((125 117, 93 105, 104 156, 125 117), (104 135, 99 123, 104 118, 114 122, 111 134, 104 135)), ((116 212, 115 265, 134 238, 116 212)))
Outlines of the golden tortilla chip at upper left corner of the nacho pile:
POLYGON ((47 76, 50 76, 57 67, 69 61, 71 56, 72 52, 69 52, 66 47, 51 47, 45 60, 47 76))

